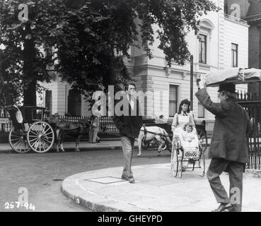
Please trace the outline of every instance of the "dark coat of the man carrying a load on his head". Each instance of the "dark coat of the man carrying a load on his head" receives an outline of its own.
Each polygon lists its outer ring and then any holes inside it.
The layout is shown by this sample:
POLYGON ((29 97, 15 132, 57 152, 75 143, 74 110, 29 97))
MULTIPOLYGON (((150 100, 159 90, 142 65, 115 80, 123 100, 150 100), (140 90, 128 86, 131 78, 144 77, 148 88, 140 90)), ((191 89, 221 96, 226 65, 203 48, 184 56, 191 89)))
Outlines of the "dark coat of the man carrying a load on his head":
POLYGON ((219 103, 212 102, 205 88, 195 95, 199 102, 216 116, 209 157, 248 162, 246 134, 250 129, 250 120, 245 109, 231 98, 219 103))

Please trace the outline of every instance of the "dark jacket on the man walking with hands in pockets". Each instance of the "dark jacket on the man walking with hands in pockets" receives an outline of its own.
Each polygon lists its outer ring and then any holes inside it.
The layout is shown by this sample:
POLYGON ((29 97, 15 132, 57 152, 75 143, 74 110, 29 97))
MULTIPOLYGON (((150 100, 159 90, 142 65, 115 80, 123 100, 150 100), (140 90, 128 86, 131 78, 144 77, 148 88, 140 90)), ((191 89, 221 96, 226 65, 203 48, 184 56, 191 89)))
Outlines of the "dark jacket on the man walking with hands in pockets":
MULTIPOLYGON (((122 101, 122 100, 121 100, 122 101)), ((127 96, 124 96, 123 102, 127 103, 127 111, 124 112, 121 116, 113 117, 115 126, 120 131, 120 136, 127 136, 131 138, 137 138, 139 136, 139 130, 142 126, 142 115, 139 105, 139 100, 134 101, 134 109, 132 110, 127 100, 127 96)), ((126 105, 122 106, 126 107, 126 105)))

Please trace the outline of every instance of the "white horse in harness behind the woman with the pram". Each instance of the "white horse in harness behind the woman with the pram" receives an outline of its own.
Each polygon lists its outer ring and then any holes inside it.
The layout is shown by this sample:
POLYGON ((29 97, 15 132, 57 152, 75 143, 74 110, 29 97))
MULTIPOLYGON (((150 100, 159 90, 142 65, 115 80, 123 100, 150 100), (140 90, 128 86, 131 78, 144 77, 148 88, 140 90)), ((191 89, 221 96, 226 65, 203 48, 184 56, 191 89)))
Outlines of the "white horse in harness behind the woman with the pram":
POLYGON ((162 147, 166 143, 167 148, 168 145, 171 145, 169 135, 165 129, 162 129, 158 126, 141 126, 138 136, 138 145, 139 145, 139 153, 138 156, 141 156, 141 143, 144 141, 152 141, 156 139, 158 141, 158 155, 162 153, 162 147))

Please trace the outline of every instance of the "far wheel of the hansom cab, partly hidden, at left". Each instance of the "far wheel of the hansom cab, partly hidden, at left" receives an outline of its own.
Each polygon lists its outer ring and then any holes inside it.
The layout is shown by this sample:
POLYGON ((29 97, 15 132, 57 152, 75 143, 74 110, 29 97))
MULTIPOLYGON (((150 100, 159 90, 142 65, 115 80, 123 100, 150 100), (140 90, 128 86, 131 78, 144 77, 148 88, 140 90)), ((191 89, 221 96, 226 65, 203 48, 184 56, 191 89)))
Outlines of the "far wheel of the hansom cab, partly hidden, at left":
POLYGON ((8 140, 11 148, 17 153, 28 153, 30 151, 25 131, 17 131, 13 127, 9 133, 8 140))

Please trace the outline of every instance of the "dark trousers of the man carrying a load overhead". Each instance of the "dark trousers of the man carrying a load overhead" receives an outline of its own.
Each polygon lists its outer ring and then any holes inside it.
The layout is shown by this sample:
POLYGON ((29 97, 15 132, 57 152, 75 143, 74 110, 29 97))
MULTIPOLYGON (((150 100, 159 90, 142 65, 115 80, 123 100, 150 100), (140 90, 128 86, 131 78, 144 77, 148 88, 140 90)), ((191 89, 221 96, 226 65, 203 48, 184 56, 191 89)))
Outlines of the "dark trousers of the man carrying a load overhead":
POLYGON ((216 201, 218 203, 231 202, 236 212, 242 210, 243 172, 244 164, 242 162, 228 161, 223 158, 212 158, 207 171, 207 179, 216 201), (219 175, 224 171, 229 174, 229 198, 219 178, 219 175))

